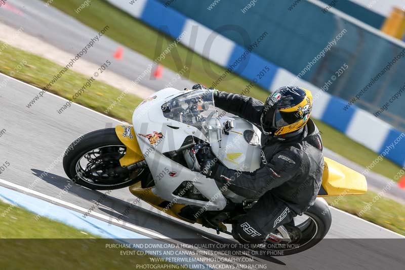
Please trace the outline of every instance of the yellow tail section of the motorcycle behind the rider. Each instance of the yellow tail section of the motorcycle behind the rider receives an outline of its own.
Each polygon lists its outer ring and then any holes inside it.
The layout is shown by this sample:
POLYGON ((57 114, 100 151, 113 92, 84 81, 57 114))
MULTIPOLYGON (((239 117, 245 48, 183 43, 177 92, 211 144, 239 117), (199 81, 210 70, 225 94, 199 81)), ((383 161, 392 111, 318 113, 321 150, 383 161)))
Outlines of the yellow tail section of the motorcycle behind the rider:
POLYGON ((367 192, 367 181, 364 175, 331 159, 324 158, 324 160, 322 187, 327 194, 318 195, 318 197, 365 194, 367 192))

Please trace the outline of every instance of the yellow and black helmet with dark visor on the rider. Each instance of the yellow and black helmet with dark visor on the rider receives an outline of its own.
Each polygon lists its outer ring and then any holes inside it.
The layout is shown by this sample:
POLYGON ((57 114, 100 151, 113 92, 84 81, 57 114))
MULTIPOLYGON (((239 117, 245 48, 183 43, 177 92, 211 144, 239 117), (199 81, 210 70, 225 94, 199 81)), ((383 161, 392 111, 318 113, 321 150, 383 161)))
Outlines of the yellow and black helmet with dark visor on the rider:
POLYGON ((263 107, 260 123, 264 134, 279 136, 304 127, 312 109, 312 94, 297 86, 277 89, 263 107))

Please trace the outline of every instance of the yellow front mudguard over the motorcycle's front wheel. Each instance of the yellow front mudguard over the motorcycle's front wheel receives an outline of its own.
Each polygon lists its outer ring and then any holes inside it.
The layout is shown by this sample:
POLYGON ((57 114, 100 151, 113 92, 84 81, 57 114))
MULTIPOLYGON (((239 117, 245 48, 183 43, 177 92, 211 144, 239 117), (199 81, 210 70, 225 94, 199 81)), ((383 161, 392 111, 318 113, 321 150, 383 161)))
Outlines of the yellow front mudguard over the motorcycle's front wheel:
POLYGON ((142 155, 141 148, 139 148, 138 140, 136 139, 135 131, 132 126, 116 126, 115 133, 118 139, 127 146, 127 153, 119 160, 121 166, 125 168, 145 159, 142 155))

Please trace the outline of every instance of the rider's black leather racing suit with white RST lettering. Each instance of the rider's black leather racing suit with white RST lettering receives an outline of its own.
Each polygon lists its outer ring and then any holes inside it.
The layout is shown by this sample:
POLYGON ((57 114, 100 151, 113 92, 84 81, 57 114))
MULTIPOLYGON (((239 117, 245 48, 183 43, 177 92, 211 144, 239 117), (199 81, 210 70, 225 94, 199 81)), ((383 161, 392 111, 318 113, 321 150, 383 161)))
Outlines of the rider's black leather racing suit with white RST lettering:
MULTIPOLYGON (((263 102, 252 97, 218 92, 215 105, 251 122, 259 129, 263 102)), ((213 178, 234 177, 229 189, 246 198, 260 198, 247 215, 233 226, 239 242, 260 243, 278 226, 312 206, 323 173, 322 141, 312 120, 301 133, 288 137, 261 138, 262 164, 254 172, 237 174, 218 166, 213 178)))

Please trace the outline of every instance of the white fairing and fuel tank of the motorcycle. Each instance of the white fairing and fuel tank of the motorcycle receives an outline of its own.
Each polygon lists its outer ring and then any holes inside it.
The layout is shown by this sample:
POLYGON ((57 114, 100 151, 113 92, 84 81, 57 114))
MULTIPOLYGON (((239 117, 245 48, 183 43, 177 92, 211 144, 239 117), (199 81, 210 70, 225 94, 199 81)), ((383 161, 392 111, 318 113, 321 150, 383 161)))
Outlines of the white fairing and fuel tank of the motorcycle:
MULTIPOLYGON (((161 110, 161 105, 167 101, 189 92, 166 88, 146 99, 133 114, 135 135, 154 178, 155 186, 152 188, 152 192, 156 196, 170 202, 205 207, 207 210, 222 210, 226 206, 226 199, 215 180, 207 178, 199 172, 191 171, 163 155, 165 152, 179 149, 185 138, 190 135, 208 141, 208 138, 197 128, 165 118, 161 110), (163 138, 158 138, 160 135, 153 137, 154 132, 161 132, 163 138), (149 138, 140 134, 149 135, 149 138), (192 200, 173 195, 183 181, 192 181, 199 192, 210 201, 192 200)), ((221 124, 226 120, 227 118, 222 118, 221 124)), ((260 146, 250 145, 244 139, 245 130, 255 130, 260 138, 260 131, 252 124, 240 118, 234 118, 232 131, 237 133, 230 132, 229 135, 222 135, 222 147, 220 148, 219 143, 215 142, 212 143, 212 149, 228 168, 253 171, 260 165, 260 146), (235 155, 229 156, 232 153, 236 153, 236 156, 238 153, 241 155, 237 158, 235 155)), ((237 197, 231 191, 226 192, 234 200, 237 197)), ((226 192, 224 192, 225 195, 226 192)))

